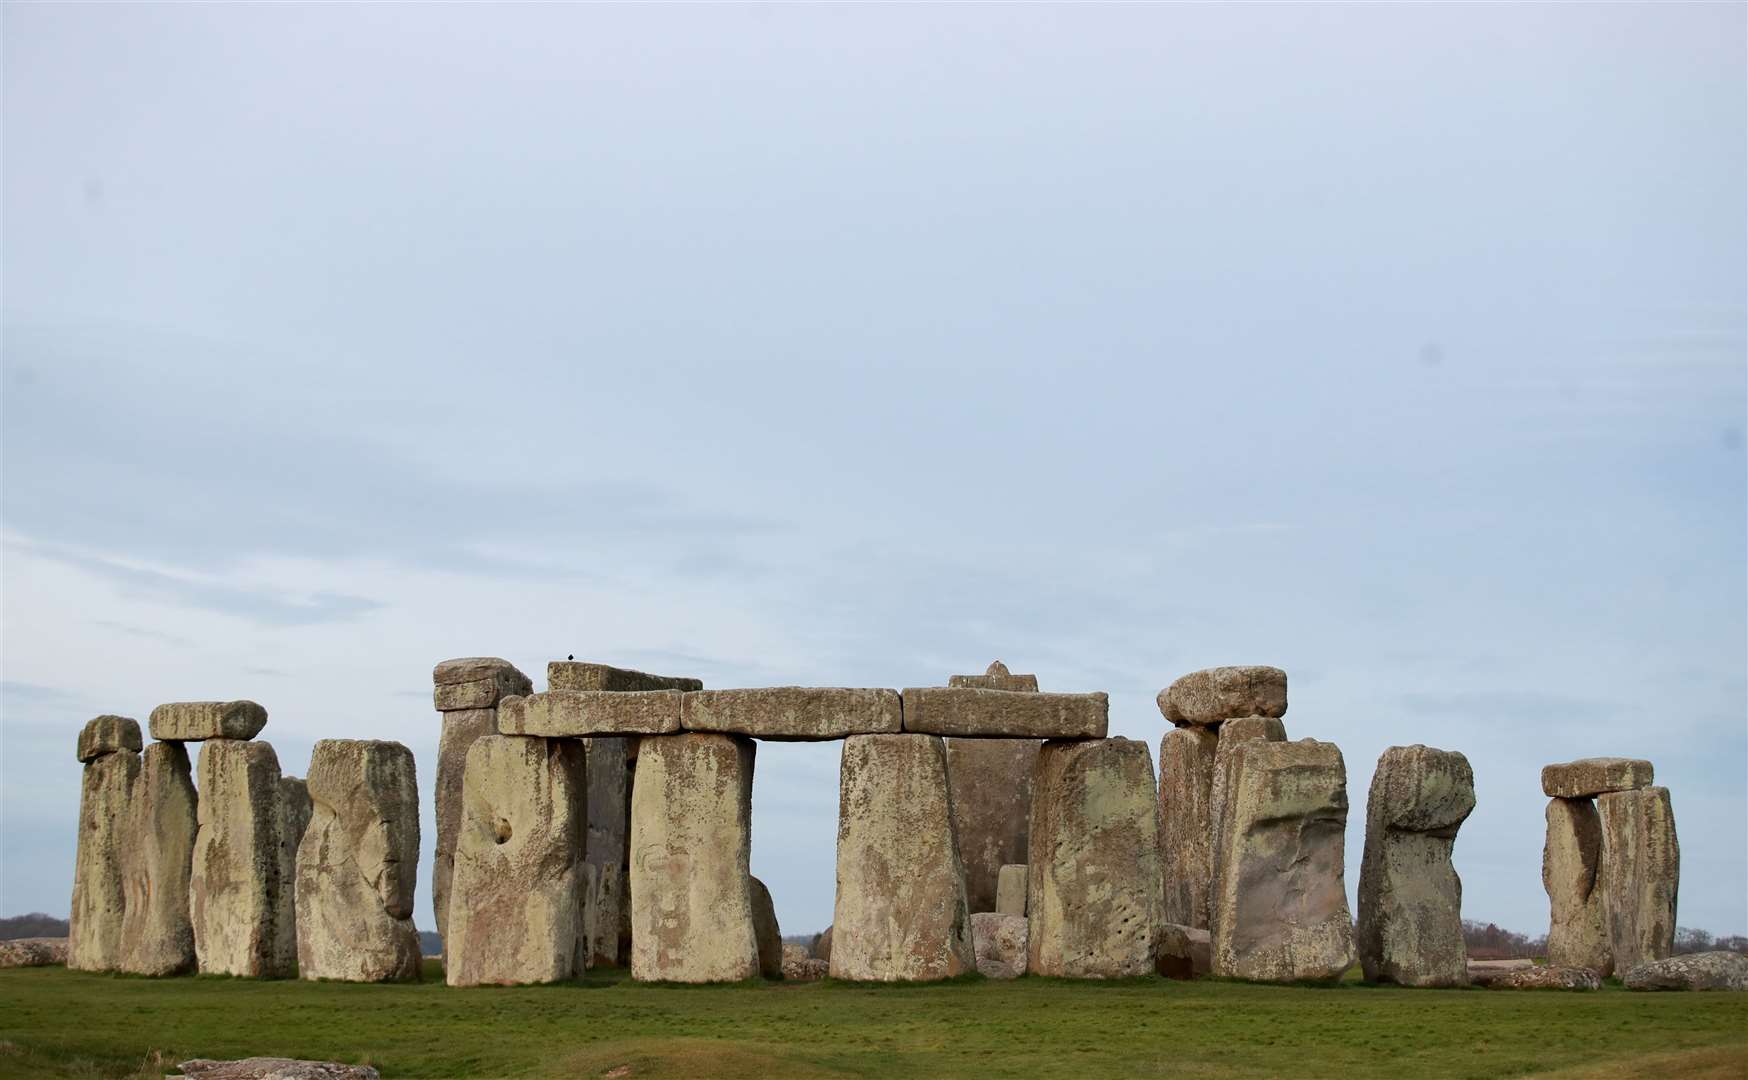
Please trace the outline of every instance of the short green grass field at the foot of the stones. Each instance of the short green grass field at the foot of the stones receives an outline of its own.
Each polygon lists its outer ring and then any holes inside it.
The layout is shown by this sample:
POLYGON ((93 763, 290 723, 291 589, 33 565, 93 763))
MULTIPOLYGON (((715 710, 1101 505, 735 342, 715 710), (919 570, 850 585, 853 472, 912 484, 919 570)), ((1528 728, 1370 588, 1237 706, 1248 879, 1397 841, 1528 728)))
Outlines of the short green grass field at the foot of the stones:
POLYGON ((0 1077, 271 1054, 385 1077, 1748 1077, 1748 994, 1346 982, 565 986, 0 970, 0 1077))

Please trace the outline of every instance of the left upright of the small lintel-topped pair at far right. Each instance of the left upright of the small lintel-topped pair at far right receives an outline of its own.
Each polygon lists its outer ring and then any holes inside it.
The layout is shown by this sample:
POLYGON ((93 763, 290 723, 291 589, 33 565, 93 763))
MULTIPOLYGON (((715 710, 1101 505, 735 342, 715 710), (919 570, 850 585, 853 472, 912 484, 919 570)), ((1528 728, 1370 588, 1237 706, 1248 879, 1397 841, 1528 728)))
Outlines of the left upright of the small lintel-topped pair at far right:
POLYGON ((1603 825, 1589 799, 1550 799, 1547 842, 1542 846, 1542 888, 1547 890, 1547 963, 1613 972, 1613 949, 1603 921, 1596 872, 1603 862, 1603 825))

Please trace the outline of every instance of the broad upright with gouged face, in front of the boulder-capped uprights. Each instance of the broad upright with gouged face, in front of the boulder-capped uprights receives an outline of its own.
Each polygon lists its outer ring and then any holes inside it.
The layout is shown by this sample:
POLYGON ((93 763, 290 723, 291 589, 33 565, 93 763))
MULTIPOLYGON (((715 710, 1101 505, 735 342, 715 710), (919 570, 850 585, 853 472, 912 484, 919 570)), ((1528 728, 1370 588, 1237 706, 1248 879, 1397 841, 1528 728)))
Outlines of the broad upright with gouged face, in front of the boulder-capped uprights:
POLYGON ((1341 750, 1316 739, 1248 741, 1236 746, 1232 769, 1210 912, 1215 973, 1339 979, 1353 965, 1341 750))

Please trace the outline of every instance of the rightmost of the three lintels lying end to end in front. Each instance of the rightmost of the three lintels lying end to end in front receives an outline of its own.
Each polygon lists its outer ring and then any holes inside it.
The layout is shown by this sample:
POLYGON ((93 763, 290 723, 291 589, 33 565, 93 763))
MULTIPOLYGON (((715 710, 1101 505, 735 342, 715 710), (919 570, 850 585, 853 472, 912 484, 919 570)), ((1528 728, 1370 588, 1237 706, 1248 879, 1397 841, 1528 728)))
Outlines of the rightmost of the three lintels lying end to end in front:
POLYGON ((1014 694, 967 687, 911 687, 904 730, 977 739, 1103 739, 1105 694, 1014 694))

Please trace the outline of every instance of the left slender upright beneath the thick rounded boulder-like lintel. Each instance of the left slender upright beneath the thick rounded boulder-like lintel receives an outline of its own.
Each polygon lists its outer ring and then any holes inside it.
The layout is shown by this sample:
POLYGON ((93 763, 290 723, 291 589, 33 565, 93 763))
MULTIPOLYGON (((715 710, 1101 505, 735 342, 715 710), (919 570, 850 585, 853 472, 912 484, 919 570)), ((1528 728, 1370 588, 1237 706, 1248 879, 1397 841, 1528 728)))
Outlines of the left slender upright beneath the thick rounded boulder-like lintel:
POLYGON ((1173 727, 1159 739, 1159 869, 1166 923, 1208 926, 1213 881, 1213 762, 1220 734, 1173 727))

